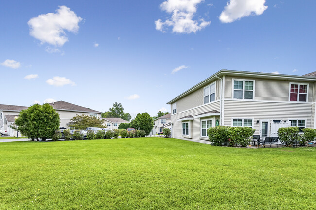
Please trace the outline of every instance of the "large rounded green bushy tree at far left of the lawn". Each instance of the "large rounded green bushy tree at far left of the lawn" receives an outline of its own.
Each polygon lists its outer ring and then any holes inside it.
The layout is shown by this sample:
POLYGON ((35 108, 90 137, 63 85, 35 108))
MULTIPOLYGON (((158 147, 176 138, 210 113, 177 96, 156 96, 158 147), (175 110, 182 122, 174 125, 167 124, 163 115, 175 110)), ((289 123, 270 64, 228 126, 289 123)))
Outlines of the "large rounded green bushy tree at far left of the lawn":
POLYGON ((22 110, 15 121, 22 135, 32 139, 45 141, 52 138, 59 129, 59 114, 49 104, 34 104, 22 110))

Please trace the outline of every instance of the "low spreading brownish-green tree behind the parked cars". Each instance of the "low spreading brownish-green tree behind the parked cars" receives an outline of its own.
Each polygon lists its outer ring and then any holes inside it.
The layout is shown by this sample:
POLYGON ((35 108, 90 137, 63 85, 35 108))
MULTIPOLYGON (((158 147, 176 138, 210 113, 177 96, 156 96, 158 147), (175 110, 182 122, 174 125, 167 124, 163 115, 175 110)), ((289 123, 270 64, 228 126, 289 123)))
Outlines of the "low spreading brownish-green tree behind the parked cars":
POLYGON ((72 126, 75 129, 85 130, 88 127, 104 128, 103 120, 95 116, 89 116, 85 114, 76 115, 71 119, 72 126))

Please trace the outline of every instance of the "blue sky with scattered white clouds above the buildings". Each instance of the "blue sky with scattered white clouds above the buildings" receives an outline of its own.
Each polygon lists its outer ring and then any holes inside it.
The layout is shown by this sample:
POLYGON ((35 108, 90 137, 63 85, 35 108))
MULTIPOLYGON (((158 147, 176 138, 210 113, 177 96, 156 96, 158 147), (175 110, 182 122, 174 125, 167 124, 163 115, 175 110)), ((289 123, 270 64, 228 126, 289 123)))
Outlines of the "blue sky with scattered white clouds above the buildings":
POLYGON ((0 103, 156 115, 220 69, 310 73, 315 11, 315 0, 2 1, 0 103))

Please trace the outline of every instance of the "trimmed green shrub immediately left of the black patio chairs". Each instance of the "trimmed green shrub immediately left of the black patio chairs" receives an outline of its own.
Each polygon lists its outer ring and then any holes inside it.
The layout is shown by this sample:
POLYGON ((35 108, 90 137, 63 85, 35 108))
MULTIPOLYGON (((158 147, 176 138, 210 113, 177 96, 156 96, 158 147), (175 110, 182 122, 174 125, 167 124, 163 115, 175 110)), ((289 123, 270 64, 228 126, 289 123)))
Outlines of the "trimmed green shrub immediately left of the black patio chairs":
POLYGON ((249 145, 254 132, 255 129, 251 129, 250 127, 230 127, 228 129, 229 145, 233 146, 237 143, 241 147, 246 147, 249 145))

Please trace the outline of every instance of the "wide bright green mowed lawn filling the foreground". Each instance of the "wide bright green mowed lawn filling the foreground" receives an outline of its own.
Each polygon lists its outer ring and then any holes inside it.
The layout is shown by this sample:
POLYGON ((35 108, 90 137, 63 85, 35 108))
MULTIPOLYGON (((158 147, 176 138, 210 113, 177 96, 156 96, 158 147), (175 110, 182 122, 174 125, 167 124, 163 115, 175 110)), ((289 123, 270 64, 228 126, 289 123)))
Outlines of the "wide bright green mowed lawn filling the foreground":
POLYGON ((316 149, 155 137, 0 143, 0 209, 314 210, 316 149))

